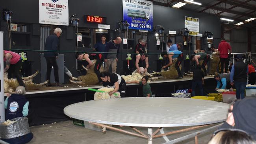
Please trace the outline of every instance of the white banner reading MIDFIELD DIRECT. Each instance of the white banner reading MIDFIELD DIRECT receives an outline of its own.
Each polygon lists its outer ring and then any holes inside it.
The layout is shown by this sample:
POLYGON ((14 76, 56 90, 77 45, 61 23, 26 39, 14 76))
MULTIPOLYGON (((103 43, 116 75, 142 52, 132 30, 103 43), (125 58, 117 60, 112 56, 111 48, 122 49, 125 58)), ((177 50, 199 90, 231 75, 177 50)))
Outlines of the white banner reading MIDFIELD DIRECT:
POLYGON ((68 26, 68 0, 39 0, 39 23, 68 26))

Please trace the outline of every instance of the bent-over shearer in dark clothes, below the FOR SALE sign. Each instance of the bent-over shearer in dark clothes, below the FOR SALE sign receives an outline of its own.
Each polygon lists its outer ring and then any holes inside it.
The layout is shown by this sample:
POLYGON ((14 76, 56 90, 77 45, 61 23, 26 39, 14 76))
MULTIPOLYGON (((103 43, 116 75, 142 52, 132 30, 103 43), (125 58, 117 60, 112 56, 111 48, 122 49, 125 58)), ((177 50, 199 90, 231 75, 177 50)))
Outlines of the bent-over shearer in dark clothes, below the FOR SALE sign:
POLYGON ((204 52, 198 52, 195 55, 192 55, 190 57, 191 61, 196 61, 197 65, 199 65, 200 60, 204 60, 202 63, 202 69, 204 70, 204 76, 207 76, 206 68, 205 66, 207 65, 208 61, 210 60, 210 56, 204 52))

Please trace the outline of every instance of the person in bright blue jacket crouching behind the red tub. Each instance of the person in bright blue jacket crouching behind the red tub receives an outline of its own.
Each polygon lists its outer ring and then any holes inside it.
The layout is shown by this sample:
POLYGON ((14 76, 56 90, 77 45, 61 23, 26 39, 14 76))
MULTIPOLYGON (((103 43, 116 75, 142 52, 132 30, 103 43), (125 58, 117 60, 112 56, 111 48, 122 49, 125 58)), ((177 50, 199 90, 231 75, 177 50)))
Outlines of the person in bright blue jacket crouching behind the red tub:
MULTIPOLYGON (((217 74, 214 76, 214 79, 217 81, 217 87, 216 89, 226 89, 227 84, 230 83, 230 74, 217 74), (222 87, 221 87, 222 84, 222 87)), ((228 87, 230 88, 230 87, 228 87)))

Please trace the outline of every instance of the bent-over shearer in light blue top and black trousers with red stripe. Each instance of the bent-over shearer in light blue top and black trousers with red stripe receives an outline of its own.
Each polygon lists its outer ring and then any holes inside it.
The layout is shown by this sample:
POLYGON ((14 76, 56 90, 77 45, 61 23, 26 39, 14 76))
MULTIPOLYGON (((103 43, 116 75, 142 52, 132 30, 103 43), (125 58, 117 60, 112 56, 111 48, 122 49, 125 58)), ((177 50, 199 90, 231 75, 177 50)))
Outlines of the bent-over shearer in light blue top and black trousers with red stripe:
POLYGON ((168 52, 162 52, 162 57, 164 58, 167 58, 169 59, 169 63, 165 66, 163 66, 161 69, 164 69, 164 68, 167 68, 168 66, 172 65, 173 64, 173 58, 178 58, 176 63, 175 63, 175 68, 178 72, 178 77, 177 78, 183 78, 181 72, 180 72, 180 64, 182 63, 183 61, 183 53, 179 50, 171 50, 168 52))

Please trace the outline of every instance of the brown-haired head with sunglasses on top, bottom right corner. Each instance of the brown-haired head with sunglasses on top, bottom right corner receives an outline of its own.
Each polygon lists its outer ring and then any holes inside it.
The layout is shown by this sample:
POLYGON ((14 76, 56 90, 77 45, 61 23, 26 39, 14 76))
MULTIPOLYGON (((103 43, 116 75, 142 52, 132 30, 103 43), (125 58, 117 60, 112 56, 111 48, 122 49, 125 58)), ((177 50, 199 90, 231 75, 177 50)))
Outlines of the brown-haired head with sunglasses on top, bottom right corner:
POLYGON ((208 144, 256 144, 250 135, 240 129, 219 129, 208 144))

